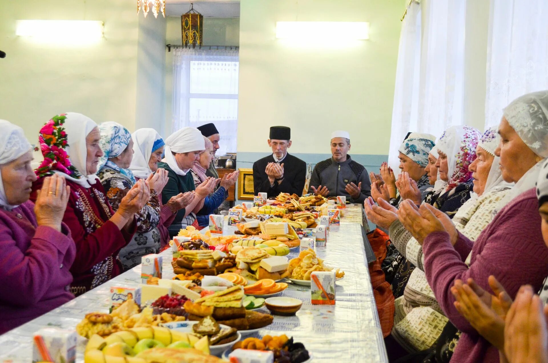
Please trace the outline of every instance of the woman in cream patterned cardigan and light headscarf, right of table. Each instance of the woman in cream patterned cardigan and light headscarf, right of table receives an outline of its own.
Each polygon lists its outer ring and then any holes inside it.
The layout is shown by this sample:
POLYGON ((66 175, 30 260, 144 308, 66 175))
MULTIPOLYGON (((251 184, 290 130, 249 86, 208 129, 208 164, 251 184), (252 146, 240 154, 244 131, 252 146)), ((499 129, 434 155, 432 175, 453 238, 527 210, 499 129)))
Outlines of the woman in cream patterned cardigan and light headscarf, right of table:
MULTIPOLYGON (((490 128, 483 134, 476 148, 477 158, 469 167, 473 177, 473 193, 452 220, 456 229, 472 241, 492 221, 497 203, 510 192, 511 185, 502 178, 499 157, 495 156, 499 140, 496 128, 490 128)), ((396 247, 417 268, 410 274, 403 296, 396 299, 392 336, 410 353, 424 352, 433 347, 438 337, 440 342, 454 345, 460 333, 448 323, 436 302, 423 272, 424 256, 419 243, 411 238, 406 245, 396 247), (444 324, 447 324, 445 328, 444 324), (440 335, 442 330, 444 333, 440 335)), ((436 350, 438 361, 442 357, 443 361, 448 361, 452 354, 452 350, 442 344, 438 344, 436 350)), ((426 356, 426 353, 422 355, 426 356)), ((416 360, 418 355, 413 354, 409 359, 416 360)))

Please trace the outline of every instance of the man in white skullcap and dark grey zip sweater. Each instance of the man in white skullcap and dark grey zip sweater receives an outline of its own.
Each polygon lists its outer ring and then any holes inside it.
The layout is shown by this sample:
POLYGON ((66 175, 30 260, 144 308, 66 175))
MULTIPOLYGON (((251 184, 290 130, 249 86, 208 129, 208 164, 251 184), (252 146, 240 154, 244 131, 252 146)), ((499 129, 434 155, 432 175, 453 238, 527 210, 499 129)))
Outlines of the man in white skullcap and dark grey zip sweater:
POLYGON ((371 195, 371 181, 363 165, 352 160, 350 134, 335 131, 331 135, 331 154, 327 160, 316 164, 310 178, 309 193, 324 197, 344 195, 352 203, 363 203, 371 195))

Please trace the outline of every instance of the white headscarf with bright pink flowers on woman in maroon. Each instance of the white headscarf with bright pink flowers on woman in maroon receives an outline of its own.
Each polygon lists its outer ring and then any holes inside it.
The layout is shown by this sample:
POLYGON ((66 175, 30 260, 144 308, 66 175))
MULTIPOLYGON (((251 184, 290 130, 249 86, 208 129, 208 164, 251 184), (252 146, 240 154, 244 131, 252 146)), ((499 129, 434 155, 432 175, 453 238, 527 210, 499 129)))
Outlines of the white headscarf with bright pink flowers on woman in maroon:
POLYGON ((89 188, 98 180, 95 174, 83 175, 87 149, 85 137, 97 127, 89 117, 67 112, 52 117, 40 129, 38 141, 44 161, 35 170, 38 178, 54 173, 89 188), (72 154, 72 157, 70 156, 72 154))

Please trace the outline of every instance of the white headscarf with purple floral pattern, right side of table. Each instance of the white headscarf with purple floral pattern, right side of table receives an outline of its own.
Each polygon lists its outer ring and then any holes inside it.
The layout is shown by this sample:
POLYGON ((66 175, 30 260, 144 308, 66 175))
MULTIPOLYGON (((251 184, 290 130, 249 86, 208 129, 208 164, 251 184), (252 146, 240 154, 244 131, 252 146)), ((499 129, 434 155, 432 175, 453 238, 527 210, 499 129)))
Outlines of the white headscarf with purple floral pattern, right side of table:
POLYGON ((476 147, 481 133, 470 126, 452 126, 443 132, 436 148, 447 155, 448 177, 446 191, 472 179, 468 167, 476 160, 476 147))

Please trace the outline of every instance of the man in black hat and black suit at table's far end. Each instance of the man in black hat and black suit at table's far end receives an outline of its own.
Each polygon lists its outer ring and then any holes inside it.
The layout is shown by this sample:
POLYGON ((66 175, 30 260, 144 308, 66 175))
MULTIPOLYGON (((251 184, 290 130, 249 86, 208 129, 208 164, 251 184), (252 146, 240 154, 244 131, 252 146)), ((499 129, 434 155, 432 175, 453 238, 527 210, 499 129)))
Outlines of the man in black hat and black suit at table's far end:
POLYGON ((272 126, 268 142, 272 155, 253 163, 255 195, 266 192, 269 198, 280 193, 301 196, 305 186, 306 163, 287 153, 287 149, 291 147, 291 129, 272 126))

